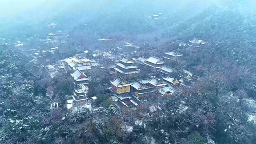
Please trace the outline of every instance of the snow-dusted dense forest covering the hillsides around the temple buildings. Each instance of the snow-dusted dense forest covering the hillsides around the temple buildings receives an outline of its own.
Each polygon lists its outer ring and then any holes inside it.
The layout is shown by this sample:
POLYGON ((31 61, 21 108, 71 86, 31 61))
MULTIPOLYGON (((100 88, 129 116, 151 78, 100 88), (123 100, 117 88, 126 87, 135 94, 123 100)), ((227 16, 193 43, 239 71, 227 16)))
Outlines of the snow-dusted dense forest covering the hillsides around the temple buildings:
MULTIPOLYGON (((63 2, 61 8, 52 3, 41 9, 34 6, 37 15, 31 14, 32 9, 18 16, 1 16, 0 144, 255 144, 256 122, 248 119, 256 115, 256 3, 121 1, 100 0, 96 7, 97 2, 73 0, 63 2), (163 13, 159 19, 148 18, 158 13, 163 13), (54 30, 47 27, 53 22, 57 24, 54 30), (44 43, 52 31, 69 36, 44 43), (193 38, 202 38, 206 44, 186 48, 172 44, 193 38), (15 46, 17 41, 24 45, 15 46), (147 94, 141 98, 145 105, 119 110, 101 88, 112 79, 108 69, 95 66, 86 74, 91 77, 88 94, 98 97, 97 112, 67 110, 65 96, 75 86, 67 73, 51 78, 45 63, 84 50, 118 55, 117 49, 125 42, 140 47, 138 56, 151 55, 149 48, 157 49, 154 55, 158 57, 165 48, 177 50, 183 61, 170 65, 196 73, 203 81, 189 89, 179 88, 168 98, 147 94), (31 63, 34 57, 28 50, 55 46, 57 54, 31 63), (58 108, 50 108, 53 101, 59 102, 58 108), (181 106, 187 110, 181 111, 181 106)), ((115 63, 99 59, 104 67, 115 63)), ((152 73, 161 77, 155 70, 140 70, 142 77, 152 73)))

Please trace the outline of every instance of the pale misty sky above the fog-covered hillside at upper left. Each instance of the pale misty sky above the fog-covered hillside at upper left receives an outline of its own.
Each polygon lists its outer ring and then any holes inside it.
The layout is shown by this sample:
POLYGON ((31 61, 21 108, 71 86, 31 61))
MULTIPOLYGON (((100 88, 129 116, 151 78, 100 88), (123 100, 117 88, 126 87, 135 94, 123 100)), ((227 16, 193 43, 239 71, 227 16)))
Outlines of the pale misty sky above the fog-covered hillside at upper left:
MULTIPOLYGON (((0 16, 17 16, 23 12, 36 12, 37 9, 53 9, 67 7, 70 4, 82 3, 85 6, 102 7, 103 4, 127 4, 130 1, 138 3, 154 3, 165 7, 168 4, 185 4, 191 0, 0 0, 0 16), (165 5, 166 4, 166 5, 165 5)), ((192 0, 198 1, 198 0, 192 0)), ((213 1, 213 0, 203 0, 213 1)), ((103 6, 104 7, 104 6, 103 6)), ((88 7, 87 7, 88 8, 88 7)), ((154 8, 153 8, 154 9, 154 8)))

